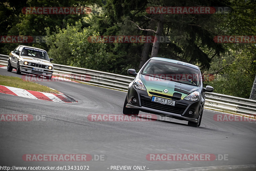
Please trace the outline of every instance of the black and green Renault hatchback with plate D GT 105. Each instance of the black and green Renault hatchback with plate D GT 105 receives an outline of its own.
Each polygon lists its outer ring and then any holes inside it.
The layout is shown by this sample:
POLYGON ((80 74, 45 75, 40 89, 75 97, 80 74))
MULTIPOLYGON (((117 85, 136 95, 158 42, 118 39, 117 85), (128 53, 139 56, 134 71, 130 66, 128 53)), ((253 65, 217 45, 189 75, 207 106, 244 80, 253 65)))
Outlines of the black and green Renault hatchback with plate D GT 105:
POLYGON ((138 73, 129 69, 135 79, 129 84, 123 114, 138 115, 139 111, 188 121, 200 126, 205 93, 212 86, 203 87, 198 66, 177 60, 150 58, 138 73))

